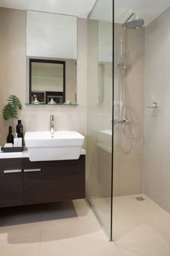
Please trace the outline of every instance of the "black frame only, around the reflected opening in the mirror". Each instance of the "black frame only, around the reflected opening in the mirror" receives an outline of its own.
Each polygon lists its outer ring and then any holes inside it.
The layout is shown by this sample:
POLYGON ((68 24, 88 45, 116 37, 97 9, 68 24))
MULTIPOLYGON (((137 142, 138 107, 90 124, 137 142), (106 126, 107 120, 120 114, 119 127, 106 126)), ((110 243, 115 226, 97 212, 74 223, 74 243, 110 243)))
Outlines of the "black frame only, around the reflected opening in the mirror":
POLYGON ((31 104, 31 63, 42 62, 42 63, 58 63, 63 65, 63 103, 65 102, 65 61, 52 60, 52 59, 34 59, 29 58, 29 103, 31 104))

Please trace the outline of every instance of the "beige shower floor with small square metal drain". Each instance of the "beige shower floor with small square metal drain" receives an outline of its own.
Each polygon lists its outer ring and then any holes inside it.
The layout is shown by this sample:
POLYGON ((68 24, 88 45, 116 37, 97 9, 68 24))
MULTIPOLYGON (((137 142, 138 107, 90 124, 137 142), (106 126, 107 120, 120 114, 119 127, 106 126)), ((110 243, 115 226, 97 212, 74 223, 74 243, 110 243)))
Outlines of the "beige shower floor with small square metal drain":
MULTIPOLYGON (((98 212, 103 217, 110 198, 92 201, 95 207, 103 209, 98 212)), ((117 247, 129 251, 127 255, 169 256, 169 230, 170 214, 144 194, 113 197, 112 240, 117 247)))

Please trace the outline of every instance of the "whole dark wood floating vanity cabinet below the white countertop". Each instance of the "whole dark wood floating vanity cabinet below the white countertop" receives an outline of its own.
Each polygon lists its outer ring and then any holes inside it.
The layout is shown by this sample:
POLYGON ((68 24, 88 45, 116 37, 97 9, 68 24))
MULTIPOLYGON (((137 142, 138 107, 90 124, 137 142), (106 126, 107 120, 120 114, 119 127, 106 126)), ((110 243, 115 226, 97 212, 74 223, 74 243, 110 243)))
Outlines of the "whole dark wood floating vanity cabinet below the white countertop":
POLYGON ((85 155, 78 160, 0 159, 0 207, 85 198, 85 155))

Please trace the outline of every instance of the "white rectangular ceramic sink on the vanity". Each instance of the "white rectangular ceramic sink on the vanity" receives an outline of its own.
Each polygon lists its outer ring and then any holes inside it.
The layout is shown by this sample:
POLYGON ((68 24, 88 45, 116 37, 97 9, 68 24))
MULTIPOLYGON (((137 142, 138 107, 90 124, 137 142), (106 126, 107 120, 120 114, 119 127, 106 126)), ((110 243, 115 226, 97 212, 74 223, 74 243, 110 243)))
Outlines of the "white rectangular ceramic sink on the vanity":
POLYGON ((49 131, 25 133, 25 146, 30 161, 71 160, 80 157, 84 136, 77 131, 49 131))

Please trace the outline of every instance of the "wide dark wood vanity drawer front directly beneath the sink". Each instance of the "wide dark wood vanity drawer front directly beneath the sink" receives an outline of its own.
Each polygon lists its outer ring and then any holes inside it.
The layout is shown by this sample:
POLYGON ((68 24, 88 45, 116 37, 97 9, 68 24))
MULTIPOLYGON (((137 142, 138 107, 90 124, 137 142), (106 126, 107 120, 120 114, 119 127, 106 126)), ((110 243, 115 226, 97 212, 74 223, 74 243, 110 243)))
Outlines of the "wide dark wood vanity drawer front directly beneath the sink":
POLYGON ((85 165, 24 169, 24 204, 85 198, 85 165))

